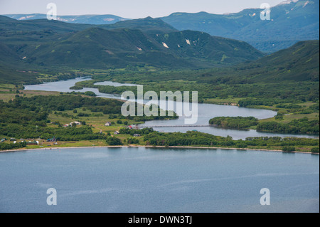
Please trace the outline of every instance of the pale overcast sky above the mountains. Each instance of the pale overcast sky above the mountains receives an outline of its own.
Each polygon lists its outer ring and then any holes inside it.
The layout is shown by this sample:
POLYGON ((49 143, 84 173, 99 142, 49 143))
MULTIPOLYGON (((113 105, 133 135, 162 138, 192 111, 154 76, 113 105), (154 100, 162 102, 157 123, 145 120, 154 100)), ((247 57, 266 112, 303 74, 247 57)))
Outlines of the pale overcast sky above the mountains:
POLYGON ((168 16, 174 12, 210 14, 236 13, 242 9, 275 6, 284 0, 0 0, 0 14, 46 14, 48 3, 57 6, 57 14, 114 14, 127 19, 168 16))

